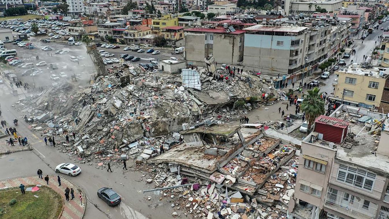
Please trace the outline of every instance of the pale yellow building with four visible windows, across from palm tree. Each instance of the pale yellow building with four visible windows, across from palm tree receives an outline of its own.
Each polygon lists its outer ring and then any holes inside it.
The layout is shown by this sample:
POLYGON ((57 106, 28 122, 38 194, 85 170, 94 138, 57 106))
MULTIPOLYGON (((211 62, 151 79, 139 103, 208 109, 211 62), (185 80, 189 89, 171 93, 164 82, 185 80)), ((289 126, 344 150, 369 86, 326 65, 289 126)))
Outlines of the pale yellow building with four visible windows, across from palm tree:
POLYGON ((335 98, 345 102, 358 103, 359 107, 379 107, 388 70, 362 68, 356 63, 335 72, 338 84, 335 86, 335 98))

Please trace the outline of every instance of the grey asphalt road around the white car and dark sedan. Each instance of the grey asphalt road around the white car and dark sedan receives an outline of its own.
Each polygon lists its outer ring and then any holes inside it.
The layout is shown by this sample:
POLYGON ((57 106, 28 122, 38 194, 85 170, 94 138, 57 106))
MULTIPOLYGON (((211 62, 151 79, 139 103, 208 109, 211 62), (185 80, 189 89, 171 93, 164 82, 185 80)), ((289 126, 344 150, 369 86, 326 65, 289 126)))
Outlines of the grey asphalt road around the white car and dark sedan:
MULTIPOLYGON (((0 89, 2 91, 2 89, 0 89)), ((30 145, 34 148, 33 151, 16 152, 8 155, 0 156, 0 180, 10 179, 14 177, 25 177, 36 175, 40 168, 44 174, 56 175, 54 168, 56 165, 64 162, 71 162, 79 165, 82 168, 82 173, 75 177, 70 177, 61 174, 80 186, 89 201, 85 219, 109 218, 109 219, 144 219, 144 218, 171 218, 173 211, 176 209, 170 208, 169 205, 151 209, 147 205, 159 202, 158 197, 153 196, 152 200, 145 200, 147 196, 141 193, 141 190, 150 189, 150 184, 145 183, 145 176, 140 172, 134 171, 131 161, 127 162, 127 171, 122 170, 121 165, 112 165, 113 173, 97 169, 97 162, 79 163, 76 156, 68 159, 68 155, 57 148, 46 146, 42 136, 36 135, 31 131, 31 127, 24 122, 21 114, 13 109, 12 104, 18 100, 18 97, 12 96, 8 90, 3 91, 0 103, 2 116, 8 124, 12 123, 14 118, 19 118, 17 130, 19 135, 27 137, 30 145), (90 165, 92 164, 92 165, 90 165), (143 179, 143 180, 142 180, 143 179), (109 207, 105 202, 100 200, 96 192, 101 187, 112 187, 122 197, 122 202, 116 207, 109 207), (169 206, 168 208, 166 206, 169 206)), ((5 141, 5 138, 0 139, 5 141)), ((59 137, 56 138, 57 144, 61 144, 59 137)))

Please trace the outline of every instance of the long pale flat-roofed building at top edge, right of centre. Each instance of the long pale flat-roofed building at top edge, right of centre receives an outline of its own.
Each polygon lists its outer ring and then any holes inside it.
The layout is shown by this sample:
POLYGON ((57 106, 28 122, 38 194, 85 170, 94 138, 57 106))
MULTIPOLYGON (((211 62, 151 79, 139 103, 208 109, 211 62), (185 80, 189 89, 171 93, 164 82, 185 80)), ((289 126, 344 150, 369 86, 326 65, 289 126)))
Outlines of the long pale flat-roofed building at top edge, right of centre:
POLYGON ((315 12, 317 7, 321 9, 326 9, 327 12, 339 10, 342 7, 343 0, 325 0, 325 1, 298 1, 291 2, 291 7, 289 9, 289 14, 303 14, 305 16, 310 16, 315 12))

